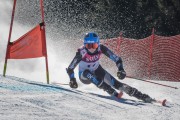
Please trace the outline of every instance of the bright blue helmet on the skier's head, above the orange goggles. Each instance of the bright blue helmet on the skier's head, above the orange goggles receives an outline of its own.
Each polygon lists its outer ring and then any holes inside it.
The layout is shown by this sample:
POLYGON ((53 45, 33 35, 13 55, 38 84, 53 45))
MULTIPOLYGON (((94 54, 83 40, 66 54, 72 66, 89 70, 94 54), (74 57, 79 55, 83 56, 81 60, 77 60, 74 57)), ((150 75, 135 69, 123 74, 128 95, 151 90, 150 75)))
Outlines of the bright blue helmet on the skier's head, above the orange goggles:
POLYGON ((93 32, 86 33, 84 37, 84 45, 90 44, 90 43, 98 43, 99 45, 99 37, 96 33, 93 33, 93 32))

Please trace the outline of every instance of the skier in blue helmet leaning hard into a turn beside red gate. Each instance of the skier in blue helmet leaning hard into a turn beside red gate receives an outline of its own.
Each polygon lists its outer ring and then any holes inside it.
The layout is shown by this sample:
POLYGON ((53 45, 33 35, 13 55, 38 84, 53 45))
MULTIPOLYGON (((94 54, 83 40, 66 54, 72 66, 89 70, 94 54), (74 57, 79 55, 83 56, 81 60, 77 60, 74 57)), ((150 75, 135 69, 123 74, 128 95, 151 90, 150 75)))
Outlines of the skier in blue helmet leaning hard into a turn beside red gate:
POLYGON ((99 63, 101 54, 105 54, 118 67, 117 77, 124 79, 126 72, 123 68, 121 57, 115 55, 106 46, 100 44, 99 37, 96 33, 87 33, 84 37, 84 45, 80 47, 74 59, 66 71, 70 77, 69 85, 71 88, 77 88, 78 84, 74 76, 74 69, 79 64, 79 79, 84 84, 95 84, 98 88, 103 89, 109 95, 121 98, 124 91, 129 96, 136 97, 144 102, 151 103, 153 99, 147 94, 143 94, 136 88, 119 82, 110 73, 108 73, 99 63), (115 89, 120 90, 118 93, 115 89))

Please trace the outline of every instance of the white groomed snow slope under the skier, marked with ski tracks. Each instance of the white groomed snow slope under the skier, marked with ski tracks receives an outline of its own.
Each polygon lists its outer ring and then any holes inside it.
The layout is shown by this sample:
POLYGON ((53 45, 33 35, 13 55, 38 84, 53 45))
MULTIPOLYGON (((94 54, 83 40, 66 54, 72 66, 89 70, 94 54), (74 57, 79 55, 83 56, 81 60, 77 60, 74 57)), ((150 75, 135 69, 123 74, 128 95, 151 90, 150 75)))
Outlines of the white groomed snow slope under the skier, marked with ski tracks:
MULTIPOLYGON (((117 100, 94 85, 84 85, 73 90, 68 85, 45 84, 0 75, 0 120, 180 119, 179 89, 128 78, 121 82, 136 87, 151 97, 166 98, 167 106, 144 103, 126 94, 123 99, 117 100)), ((177 82, 158 83, 180 87, 177 82)))

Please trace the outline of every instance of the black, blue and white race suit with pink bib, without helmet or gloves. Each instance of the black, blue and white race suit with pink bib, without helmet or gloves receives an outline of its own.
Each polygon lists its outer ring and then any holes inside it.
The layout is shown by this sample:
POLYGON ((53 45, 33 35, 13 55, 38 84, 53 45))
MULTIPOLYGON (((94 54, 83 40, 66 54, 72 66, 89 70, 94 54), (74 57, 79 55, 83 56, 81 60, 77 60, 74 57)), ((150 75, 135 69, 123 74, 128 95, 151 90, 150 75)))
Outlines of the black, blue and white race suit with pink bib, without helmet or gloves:
POLYGON ((137 99, 141 99, 145 102, 152 102, 152 98, 146 94, 142 94, 136 88, 133 88, 127 84, 121 83, 116 80, 111 74, 109 74, 99 63, 100 57, 105 54, 108 58, 116 63, 118 70, 124 70, 122 59, 116 56, 106 46, 100 44, 94 53, 90 53, 84 46, 80 47, 76 52, 76 55, 69 67, 67 73, 70 79, 75 78, 74 69, 79 64, 79 78, 82 83, 93 83, 97 87, 105 90, 108 94, 117 97, 117 90, 122 90, 130 96, 134 96, 137 99))

